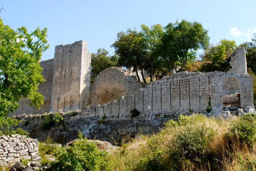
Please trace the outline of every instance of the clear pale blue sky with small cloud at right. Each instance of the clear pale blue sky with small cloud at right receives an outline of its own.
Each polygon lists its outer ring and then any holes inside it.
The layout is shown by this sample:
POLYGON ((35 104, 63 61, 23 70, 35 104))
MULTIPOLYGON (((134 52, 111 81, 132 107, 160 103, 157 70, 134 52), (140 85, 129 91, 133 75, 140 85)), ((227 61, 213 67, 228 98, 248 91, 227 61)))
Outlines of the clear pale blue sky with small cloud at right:
POLYGON ((239 45, 256 32, 256 0, 1 0, 0 6, 4 24, 15 30, 48 28, 50 48, 42 60, 54 57, 56 45, 79 40, 90 53, 101 47, 112 54, 117 32, 177 19, 200 22, 214 44, 225 38, 239 45))

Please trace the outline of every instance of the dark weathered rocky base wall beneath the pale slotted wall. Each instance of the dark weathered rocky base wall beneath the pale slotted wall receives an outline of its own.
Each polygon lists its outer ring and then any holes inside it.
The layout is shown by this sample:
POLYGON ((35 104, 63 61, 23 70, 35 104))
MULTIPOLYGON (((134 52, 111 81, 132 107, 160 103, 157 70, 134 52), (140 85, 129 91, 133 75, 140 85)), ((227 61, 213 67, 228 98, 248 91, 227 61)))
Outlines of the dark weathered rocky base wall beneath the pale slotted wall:
POLYGON ((63 114, 63 123, 55 124, 48 130, 42 128, 46 115, 16 116, 22 120, 19 127, 28 131, 32 138, 39 141, 46 140, 50 136, 54 141, 65 144, 77 138, 81 131, 88 139, 104 141, 120 141, 124 136, 135 136, 138 133, 150 134, 159 131, 164 122, 176 119, 179 114, 171 114, 168 111, 156 111, 150 114, 140 113, 131 118, 116 118, 107 116, 88 117, 83 112, 63 114))

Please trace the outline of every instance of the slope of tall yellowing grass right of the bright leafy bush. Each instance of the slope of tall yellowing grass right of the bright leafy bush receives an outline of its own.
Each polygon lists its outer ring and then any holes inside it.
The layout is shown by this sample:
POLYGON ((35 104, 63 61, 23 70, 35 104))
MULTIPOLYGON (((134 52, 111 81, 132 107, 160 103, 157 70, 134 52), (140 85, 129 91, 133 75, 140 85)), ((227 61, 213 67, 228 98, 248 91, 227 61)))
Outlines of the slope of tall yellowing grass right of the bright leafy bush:
MULTIPOLYGON (((137 136, 113 151, 108 170, 255 170, 256 153, 249 145, 255 141, 248 144, 240 136, 243 130, 237 129, 245 120, 181 116, 178 121, 167 122, 158 134, 137 136)), ((248 128, 256 127, 255 120, 250 124, 248 128)))

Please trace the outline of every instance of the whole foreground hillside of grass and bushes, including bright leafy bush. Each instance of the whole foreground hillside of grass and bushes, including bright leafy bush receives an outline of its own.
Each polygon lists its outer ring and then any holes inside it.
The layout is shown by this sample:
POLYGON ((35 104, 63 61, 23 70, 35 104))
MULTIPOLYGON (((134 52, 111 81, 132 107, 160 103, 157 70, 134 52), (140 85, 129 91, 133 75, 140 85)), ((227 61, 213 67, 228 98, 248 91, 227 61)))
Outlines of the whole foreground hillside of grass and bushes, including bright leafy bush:
POLYGON ((256 170, 255 114, 230 120, 181 115, 159 133, 137 135, 109 153, 79 137, 66 148, 48 151, 56 158, 52 170, 256 170))

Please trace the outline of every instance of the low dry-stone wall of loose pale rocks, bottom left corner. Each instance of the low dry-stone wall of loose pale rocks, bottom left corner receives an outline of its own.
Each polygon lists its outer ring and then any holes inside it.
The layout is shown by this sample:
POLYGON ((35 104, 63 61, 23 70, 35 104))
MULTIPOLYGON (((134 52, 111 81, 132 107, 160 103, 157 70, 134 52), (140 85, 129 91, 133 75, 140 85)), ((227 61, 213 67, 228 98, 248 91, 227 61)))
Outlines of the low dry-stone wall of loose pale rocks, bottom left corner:
POLYGON ((37 139, 26 138, 21 135, 0 136, 0 165, 7 165, 20 159, 39 161, 37 139))

